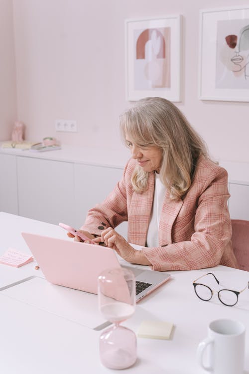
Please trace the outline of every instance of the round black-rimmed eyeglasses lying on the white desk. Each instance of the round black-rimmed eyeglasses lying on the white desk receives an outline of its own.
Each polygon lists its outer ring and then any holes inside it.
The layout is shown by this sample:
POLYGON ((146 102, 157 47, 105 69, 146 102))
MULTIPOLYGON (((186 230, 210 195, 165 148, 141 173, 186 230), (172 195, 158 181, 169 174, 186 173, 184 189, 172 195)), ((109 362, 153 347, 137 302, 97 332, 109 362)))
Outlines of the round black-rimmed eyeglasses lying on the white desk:
POLYGON ((201 300, 209 301, 209 300, 211 300, 213 294, 215 292, 217 292, 218 298, 219 298, 219 300, 222 304, 227 305, 229 307, 233 307, 235 304, 237 304, 238 299, 239 299, 239 295, 243 291, 245 291, 246 288, 249 288, 249 282, 248 282, 247 286, 241 291, 234 291, 234 290, 228 290, 228 289, 222 289, 220 291, 213 291, 213 290, 211 290, 211 288, 209 286, 206 286, 205 284, 196 283, 196 281, 198 281, 199 279, 201 279, 201 278, 203 278, 203 277, 205 277, 206 275, 209 275, 209 274, 213 275, 213 277, 215 278, 215 280, 218 284, 220 283, 213 273, 207 273, 207 274, 204 274, 201 277, 197 278, 193 282, 193 286, 194 286, 196 295, 201 300))

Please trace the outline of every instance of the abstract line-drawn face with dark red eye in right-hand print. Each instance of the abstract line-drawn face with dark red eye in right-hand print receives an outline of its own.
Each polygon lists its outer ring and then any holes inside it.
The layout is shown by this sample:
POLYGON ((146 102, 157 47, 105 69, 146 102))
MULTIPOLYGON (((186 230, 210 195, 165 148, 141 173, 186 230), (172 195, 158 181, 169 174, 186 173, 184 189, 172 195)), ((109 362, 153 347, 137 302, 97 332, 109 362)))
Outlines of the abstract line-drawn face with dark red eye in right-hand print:
POLYGON ((243 72, 245 79, 249 78, 249 24, 240 30, 238 35, 227 35, 226 42, 229 48, 234 49, 231 58, 233 72, 243 72))

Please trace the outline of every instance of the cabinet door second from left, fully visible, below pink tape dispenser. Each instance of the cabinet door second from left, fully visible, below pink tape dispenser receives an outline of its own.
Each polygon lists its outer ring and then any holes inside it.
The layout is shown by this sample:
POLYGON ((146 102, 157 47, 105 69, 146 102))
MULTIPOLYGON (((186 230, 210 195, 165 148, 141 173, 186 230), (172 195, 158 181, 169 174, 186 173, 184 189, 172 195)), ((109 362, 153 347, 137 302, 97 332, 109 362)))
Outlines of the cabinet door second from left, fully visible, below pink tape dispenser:
POLYGON ((19 214, 73 226, 73 164, 30 157, 17 158, 19 214))

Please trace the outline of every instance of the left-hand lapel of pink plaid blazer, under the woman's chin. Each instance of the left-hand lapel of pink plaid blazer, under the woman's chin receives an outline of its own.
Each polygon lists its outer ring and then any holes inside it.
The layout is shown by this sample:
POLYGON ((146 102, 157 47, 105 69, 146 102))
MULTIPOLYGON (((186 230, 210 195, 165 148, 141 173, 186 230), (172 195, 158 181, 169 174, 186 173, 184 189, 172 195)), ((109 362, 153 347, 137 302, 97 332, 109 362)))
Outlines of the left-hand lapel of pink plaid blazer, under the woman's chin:
POLYGON ((143 193, 133 193, 129 206, 129 240, 131 243, 145 245, 150 221, 155 187, 155 173, 149 173, 148 188, 143 193))

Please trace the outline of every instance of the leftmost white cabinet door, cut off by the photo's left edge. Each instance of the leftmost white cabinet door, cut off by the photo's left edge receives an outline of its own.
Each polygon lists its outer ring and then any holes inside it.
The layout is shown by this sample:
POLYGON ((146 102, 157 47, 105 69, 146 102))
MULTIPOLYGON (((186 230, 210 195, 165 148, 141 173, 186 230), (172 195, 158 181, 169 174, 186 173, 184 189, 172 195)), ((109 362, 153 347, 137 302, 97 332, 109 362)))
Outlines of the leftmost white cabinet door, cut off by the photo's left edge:
POLYGON ((16 159, 0 155, 0 211, 18 214, 16 159))

